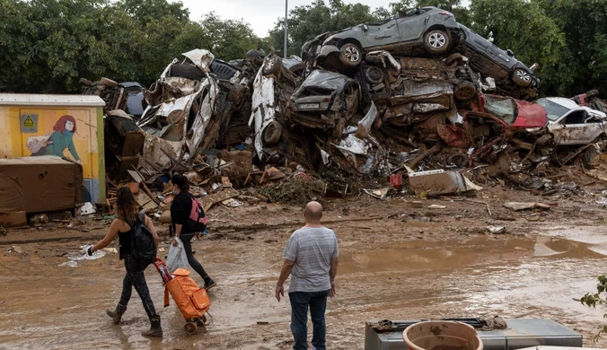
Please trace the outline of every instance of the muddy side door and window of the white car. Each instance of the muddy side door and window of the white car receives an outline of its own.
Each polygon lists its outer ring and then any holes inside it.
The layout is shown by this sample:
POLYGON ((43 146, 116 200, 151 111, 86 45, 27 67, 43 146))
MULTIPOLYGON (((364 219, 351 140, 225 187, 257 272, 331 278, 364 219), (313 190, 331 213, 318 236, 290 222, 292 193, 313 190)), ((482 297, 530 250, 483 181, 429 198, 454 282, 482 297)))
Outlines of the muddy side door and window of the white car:
POLYGON ((558 145, 590 144, 604 132, 603 122, 586 123, 588 113, 585 110, 572 110, 558 123, 549 126, 554 142, 558 145))

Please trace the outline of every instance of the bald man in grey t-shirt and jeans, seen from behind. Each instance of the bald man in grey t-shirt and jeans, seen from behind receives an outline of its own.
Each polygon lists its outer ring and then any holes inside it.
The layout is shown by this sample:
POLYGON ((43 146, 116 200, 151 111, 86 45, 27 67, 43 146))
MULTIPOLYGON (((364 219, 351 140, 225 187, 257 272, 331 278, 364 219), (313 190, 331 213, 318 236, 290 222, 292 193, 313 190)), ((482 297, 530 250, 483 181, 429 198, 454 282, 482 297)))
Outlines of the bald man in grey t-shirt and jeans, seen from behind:
POLYGON ((305 226, 295 231, 286 242, 285 263, 280 270, 276 298, 285 295, 283 284, 291 275, 291 331, 294 350, 308 348, 308 307, 312 318, 312 349, 326 350, 324 313, 327 296, 335 295, 338 272, 338 238, 335 232, 321 225, 322 206, 310 202, 304 210, 305 226))

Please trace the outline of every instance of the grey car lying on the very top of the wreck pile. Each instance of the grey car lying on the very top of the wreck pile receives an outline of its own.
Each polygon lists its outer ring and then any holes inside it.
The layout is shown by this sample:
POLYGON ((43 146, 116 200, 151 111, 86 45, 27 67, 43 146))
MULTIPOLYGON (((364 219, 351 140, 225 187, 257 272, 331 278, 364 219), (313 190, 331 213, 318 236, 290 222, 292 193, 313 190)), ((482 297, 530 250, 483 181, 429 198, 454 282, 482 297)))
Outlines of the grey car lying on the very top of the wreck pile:
MULTIPOLYGON (((304 45, 321 59, 337 55, 344 66, 358 66, 367 52, 388 50, 394 55, 429 53, 440 56, 459 41, 459 26, 452 13, 427 6, 399 13, 382 22, 368 22, 328 36, 321 46, 304 45)), ((316 40, 322 37, 317 37, 316 40)))

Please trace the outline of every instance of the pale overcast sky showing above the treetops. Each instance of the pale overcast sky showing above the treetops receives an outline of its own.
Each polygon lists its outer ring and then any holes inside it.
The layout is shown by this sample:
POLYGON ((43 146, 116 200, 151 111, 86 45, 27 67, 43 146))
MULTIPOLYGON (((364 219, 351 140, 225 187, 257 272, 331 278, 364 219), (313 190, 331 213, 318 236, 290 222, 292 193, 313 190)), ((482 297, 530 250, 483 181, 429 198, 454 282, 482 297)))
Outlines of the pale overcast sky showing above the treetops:
MULTIPOLYGON (((261 38, 268 36, 268 31, 274 28, 278 17, 285 17, 285 0, 181 0, 184 7, 189 9, 192 21, 200 20, 205 13, 215 11, 222 19, 243 19, 251 24, 255 34, 261 38)), ((372 9, 397 0, 344 0, 346 4, 360 3, 371 6, 372 9)), ((312 0, 288 0, 289 11, 296 6, 312 4, 312 0)))

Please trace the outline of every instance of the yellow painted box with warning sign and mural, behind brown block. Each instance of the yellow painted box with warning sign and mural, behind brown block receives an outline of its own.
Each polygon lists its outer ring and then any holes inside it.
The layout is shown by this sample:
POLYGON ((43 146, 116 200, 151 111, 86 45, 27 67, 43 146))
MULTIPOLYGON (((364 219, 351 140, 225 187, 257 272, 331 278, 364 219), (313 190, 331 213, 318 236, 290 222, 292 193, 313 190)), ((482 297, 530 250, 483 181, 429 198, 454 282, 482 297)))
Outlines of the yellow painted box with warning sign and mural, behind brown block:
POLYGON ((99 96, 0 93, 0 158, 56 155, 80 162, 86 199, 105 201, 99 96))

